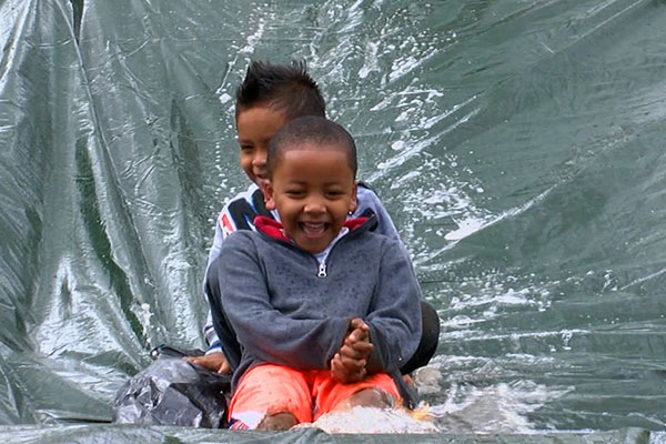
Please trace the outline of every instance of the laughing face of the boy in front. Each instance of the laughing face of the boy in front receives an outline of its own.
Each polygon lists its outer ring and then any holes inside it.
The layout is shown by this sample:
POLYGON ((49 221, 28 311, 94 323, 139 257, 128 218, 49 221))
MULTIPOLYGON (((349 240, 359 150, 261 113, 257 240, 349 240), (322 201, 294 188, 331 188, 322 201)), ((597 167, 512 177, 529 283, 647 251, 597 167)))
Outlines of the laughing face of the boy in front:
POLYGON ((306 143, 283 151, 265 189, 285 234, 310 253, 323 251, 356 208, 356 183, 344 151, 306 143))

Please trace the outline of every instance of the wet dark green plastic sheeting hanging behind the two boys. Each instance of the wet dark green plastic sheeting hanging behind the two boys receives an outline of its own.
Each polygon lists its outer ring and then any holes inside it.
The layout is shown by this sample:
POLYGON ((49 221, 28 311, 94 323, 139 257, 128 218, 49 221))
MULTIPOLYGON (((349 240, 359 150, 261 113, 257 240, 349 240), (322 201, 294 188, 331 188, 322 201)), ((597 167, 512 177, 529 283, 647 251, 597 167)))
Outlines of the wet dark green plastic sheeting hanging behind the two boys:
POLYGON ((665 428, 665 42, 663 0, 0 0, 0 423, 203 346, 234 88, 303 58, 440 311, 445 431, 665 428))

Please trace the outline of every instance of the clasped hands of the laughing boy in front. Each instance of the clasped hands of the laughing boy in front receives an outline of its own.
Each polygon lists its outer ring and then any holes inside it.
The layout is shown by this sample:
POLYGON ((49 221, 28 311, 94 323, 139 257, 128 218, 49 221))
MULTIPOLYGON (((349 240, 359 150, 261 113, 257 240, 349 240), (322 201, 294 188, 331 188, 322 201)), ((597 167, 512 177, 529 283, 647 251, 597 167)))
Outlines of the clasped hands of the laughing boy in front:
POLYGON ((343 384, 363 381, 366 373, 365 365, 372 349, 367 324, 363 320, 354 317, 350 322, 350 330, 344 343, 331 360, 333 377, 343 384))

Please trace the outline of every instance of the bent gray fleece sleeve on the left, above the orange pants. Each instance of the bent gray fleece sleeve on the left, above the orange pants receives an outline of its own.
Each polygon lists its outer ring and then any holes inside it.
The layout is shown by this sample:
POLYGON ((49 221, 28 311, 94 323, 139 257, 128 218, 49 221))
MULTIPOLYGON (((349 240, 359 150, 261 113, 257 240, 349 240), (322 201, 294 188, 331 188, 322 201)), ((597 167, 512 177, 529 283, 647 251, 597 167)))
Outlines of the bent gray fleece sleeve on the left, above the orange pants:
POLYGON ((293 369, 327 369, 349 327, 349 317, 292 319, 271 305, 253 233, 230 235, 216 270, 222 306, 243 353, 255 360, 293 369))

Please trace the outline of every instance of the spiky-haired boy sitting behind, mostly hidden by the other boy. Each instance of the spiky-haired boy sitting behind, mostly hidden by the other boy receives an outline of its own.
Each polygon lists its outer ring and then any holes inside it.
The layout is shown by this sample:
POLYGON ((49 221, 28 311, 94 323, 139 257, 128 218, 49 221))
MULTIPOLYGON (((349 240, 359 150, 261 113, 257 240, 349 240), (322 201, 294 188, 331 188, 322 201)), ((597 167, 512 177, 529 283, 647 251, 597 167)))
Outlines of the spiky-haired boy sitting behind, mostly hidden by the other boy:
MULTIPOLYGON (((215 238, 206 269, 220 255, 224 239, 231 232, 255 230, 256 215, 278 218, 275 211, 265 208, 261 190, 266 182, 266 147, 271 137, 284 123, 295 118, 325 117, 324 99, 303 63, 281 65, 252 62, 236 91, 235 108, 236 130, 241 145, 240 163, 253 183, 222 209, 215 225, 215 238)), ((351 218, 374 213, 379 222, 375 231, 400 241, 389 213, 372 190, 360 183, 356 201, 357 205, 351 218)), ((406 250, 403 253, 408 256, 406 250)), ((422 341, 413 359, 404 365, 405 374, 425 365, 437 346, 440 321, 436 312, 424 303, 423 315, 422 341)), ((234 334, 231 329, 226 329, 224 335, 233 339, 234 334)), ((201 357, 188 357, 188 361, 220 373, 231 371, 229 361, 238 365, 240 347, 238 344, 233 345, 233 341, 225 341, 230 345, 224 351, 221 350, 210 313, 209 322, 204 326, 204 336, 209 344, 206 354, 201 357)))

